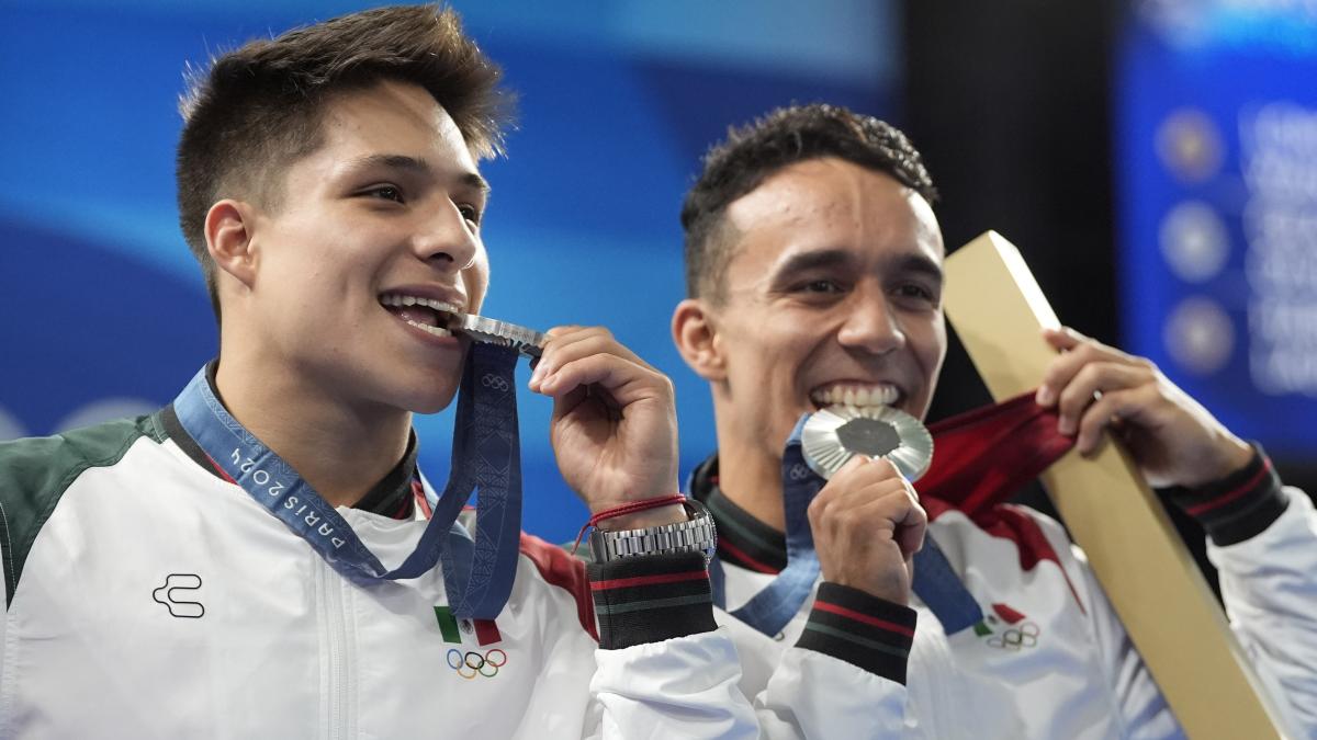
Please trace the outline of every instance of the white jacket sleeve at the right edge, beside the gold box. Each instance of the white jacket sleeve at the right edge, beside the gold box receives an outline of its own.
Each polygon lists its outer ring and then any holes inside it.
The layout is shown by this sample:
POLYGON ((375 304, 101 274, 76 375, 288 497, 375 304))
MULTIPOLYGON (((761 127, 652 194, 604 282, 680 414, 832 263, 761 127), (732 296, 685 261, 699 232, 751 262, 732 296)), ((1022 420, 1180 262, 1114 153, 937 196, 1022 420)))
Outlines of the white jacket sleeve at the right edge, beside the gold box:
POLYGON ((1208 544, 1230 627, 1292 732, 1317 737, 1317 512, 1284 489, 1284 514, 1234 545, 1208 544))

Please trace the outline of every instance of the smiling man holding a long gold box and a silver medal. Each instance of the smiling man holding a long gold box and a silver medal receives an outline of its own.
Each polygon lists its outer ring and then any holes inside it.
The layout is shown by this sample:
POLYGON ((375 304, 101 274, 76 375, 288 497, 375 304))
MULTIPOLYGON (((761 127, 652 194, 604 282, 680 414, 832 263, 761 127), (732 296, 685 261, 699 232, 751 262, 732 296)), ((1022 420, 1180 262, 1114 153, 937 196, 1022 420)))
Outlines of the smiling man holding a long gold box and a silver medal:
MULTIPOLYGON (((947 346, 934 199, 901 132, 828 105, 734 130, 686 198, 689 292, 673 336, 710 383, 718 431, 690 492, 718 523, 715 594, 743 687, 798 674, 784 660, 795 644, 853 666, 802 691, 881 686, 855 703, 848 735, 1181 736, 1056 521, 931 495, 921 507, 918 481, 863 456, 809 499, 811 474, 790 465, 803 415, 927 412, 947 346)), ((1233 627, 1289 731, 1317 733, 1308 496, 1146 359, 1068 329, 1046 340, 1062 353, 1035 403, 1081 453, 1110 429, 1150 482, 1173 487, 1212 539, 1233 627)))

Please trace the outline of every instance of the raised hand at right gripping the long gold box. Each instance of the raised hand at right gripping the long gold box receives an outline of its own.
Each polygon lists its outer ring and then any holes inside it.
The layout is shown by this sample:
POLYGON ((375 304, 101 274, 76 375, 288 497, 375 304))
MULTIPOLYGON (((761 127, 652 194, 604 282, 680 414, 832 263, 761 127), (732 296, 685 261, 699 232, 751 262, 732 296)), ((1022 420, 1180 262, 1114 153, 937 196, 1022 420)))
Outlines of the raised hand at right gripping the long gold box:
POLYGON ((1068 328, 1044 329, 1043 336, 1062 354, 1035 399, 1058 408, 1058 429, 1077 435, 1080 454, 1096 454, 1102 431, 1110 429, 1150 485, 1189 487, 1225 478, 1252 458, 1252 448, 1150 361, 1068 328))

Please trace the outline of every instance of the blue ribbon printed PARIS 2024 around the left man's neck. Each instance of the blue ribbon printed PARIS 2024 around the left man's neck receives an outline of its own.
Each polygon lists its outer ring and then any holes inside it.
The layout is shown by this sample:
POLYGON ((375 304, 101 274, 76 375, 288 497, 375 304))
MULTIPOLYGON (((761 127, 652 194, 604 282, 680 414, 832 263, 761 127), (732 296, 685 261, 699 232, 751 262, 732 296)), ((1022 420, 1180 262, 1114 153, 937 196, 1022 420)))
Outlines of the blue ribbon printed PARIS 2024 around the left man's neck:
POLYGON ((417 578, 443 560, 453 612, 493 619, 512 591, 522 528, 516 359, 515 350, 490 344, 477 342, 468 350, 449 483, 441 496, 432 498, 433 516, 416 548, 394 570, 385 569, 291 465, 229 415, 211 390, 204 367, 174 399, 174 412, 229 478, 345 578, 362 585, 417 578), (474 540, 457 524, 473 490, 479 491, 474 540))

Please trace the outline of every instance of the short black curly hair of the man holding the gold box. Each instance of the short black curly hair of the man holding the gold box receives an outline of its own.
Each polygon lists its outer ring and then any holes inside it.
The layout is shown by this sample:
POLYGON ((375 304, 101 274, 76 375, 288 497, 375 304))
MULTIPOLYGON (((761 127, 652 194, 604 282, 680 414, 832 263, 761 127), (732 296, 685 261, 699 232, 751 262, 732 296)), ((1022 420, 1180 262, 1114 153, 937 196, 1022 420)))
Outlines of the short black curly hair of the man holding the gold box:
POLYGON ((938 191, 923 159, 896 126, 839 105, 778 108, 743 128, 705 155, 705 167, 681 208, 686 232, 686 296, 720 304, 727 265, 739 234, 727 207, 778 170, 822 157, 838 157, 892 175, 930 204, 938 191))

